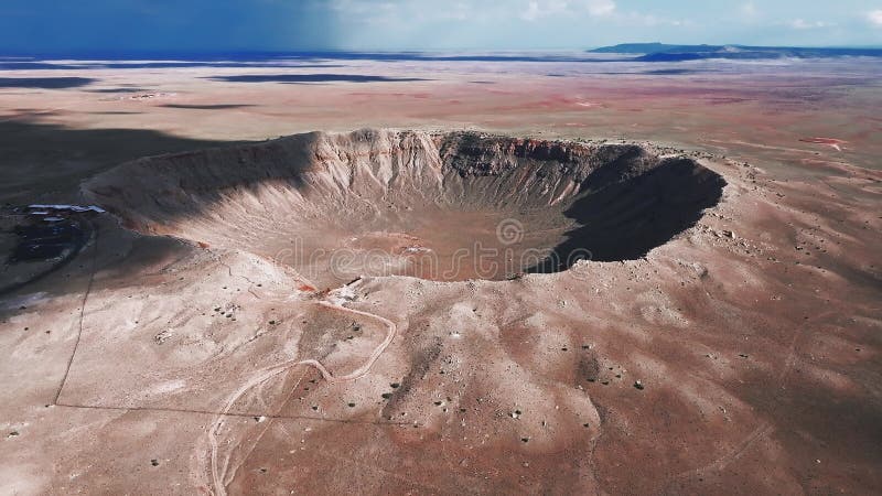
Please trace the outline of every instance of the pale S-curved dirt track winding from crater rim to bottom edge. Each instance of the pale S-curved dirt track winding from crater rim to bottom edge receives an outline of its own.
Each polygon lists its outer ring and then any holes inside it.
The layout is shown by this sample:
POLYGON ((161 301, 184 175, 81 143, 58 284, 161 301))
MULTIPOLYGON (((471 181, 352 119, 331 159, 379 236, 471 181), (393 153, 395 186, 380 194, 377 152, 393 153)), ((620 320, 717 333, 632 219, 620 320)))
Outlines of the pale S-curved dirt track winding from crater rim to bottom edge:
POLYGON ((246 392, 248 392, 251 388, 262 382, 266 382, 267 380, 278 376, 279 374, 288 371, 289 369, 297 367, 299 365, 314 367, 315 369, 319 370, 322 377, 331 384, 359 379, 365 375, 367 375, 368 371, 370 371, 370 368, 374 366, 377 359, 379 359, 380 355, 383 355, 383 352, 385 352, 386 348, 389 347, 389 345, 391 344, 392 339, 395 339, 395 335, 398 331, 398 327, 395 325, 392 321, 386 317, 369 312, 363 312, 361 310, 348 309, 341 304, 331 303, 329 301, 320 301, 319 304, 326 309, 347 312, 381 322, 389 330, 388 333, 386 334, 386 338, 374 349, 374 353, 370 354, 370 357, 367 359, 367 362, 364 363, 364 365, 362 365, 351 374, 346 374, 345 376, 333 375, 327 369, 327 367, 325 367, 321 362, 315 359, 289 360, 279 365, 275 365, 272 367, 263 368, 255 376, 252 376, 250 379, 248 379, 244 385, 241 385, 236 391, 234 391, 233 395, 230 395, 227 398, 227 401, 224 403, 224 408, 220 410, 220 413, 217 416, 215 421, 212 423, 211 429, 208 430, 208 443, 212 448, 211 472, 212 472, 212 482, 214 485, 214 490, 212 492, 212 494, 216 496, 226 496, 227 494, 226 483, 224 483, 224 476, 225 476, 224 472, 226 472, 226 464, 225 467, 222 470, 217 463, 218 462, 217 457, 219 452, 219 444, 217 438, 220 433, 219 432, 220 428, 224 424, 225 417, 227 416, 227 413, 229 413, 229 410, 233 409, 233 406, 236 403, 236 401, 238 401, 243 396, 245 396, 246 392))

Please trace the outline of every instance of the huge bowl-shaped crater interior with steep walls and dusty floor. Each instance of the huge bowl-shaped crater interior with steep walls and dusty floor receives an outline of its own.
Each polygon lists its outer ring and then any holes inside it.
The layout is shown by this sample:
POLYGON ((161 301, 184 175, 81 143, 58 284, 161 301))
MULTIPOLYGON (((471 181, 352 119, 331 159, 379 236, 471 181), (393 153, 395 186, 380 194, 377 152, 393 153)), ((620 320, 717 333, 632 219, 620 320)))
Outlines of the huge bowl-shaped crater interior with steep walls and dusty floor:
POLYGON ((84 192, 131 229, 251 251, 331 287, 637 258, 692 226, 724 184, 637 145, 363 130, 141 159, 84 192))

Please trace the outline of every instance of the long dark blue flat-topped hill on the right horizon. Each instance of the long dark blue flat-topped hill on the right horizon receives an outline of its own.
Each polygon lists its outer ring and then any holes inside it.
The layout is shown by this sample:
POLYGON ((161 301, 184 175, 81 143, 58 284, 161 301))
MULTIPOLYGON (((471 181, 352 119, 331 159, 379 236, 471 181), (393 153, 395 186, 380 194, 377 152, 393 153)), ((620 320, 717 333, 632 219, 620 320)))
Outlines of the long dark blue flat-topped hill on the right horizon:
POLYGON ((591 53, 639 55, 641 62, 681 62, 706 58, 768 60, 768 58, 825 58, 843 56, 882 57, 882 48, 804 48, 790 46, 746 45, 668 45, 664 43, 625 43, 591 50, 591 53))

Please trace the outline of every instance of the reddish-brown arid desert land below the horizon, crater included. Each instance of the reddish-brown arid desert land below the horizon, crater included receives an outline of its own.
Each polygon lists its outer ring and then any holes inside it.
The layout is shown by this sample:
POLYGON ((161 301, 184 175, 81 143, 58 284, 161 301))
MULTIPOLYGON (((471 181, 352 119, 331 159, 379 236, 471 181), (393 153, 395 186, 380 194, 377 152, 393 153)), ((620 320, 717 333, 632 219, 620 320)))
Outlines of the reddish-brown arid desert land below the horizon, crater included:
POLYGON ((882 493, 879 58, 0 66, 0 494, 882 493))

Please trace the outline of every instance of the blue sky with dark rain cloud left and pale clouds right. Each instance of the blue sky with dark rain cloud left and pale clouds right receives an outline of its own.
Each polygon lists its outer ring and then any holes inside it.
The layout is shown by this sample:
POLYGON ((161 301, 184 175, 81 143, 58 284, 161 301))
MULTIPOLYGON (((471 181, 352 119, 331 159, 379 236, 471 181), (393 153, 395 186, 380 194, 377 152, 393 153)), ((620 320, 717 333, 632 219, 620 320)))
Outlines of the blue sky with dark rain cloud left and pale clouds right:
POLYGON ((882 46, 882 0, 0 0, 0 55, 882 46))

